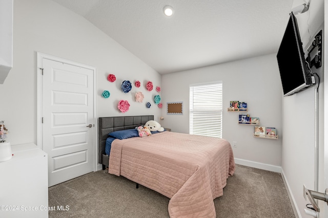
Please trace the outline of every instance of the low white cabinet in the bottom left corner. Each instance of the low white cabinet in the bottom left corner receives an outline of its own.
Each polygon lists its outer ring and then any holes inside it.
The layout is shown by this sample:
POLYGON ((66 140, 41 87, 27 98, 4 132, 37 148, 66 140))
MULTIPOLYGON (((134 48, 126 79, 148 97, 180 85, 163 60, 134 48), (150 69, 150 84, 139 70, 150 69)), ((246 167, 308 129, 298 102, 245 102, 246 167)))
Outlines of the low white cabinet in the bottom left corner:
POLYGON ((0 162, 0 217, 48 217, 48 155, 35 144, 11 146, 0 162))

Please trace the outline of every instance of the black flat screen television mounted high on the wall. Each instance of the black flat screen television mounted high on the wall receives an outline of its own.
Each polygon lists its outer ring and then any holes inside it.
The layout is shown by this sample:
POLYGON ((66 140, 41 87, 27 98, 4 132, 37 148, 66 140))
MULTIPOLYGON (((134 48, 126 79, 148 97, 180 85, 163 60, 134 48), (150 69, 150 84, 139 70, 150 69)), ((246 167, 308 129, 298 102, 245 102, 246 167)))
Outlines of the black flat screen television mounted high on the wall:
POLYGON ((315 84, 314 77, 305 62, 297 20, 291 13, 278 54, 283 96, 293 95, 315 84))

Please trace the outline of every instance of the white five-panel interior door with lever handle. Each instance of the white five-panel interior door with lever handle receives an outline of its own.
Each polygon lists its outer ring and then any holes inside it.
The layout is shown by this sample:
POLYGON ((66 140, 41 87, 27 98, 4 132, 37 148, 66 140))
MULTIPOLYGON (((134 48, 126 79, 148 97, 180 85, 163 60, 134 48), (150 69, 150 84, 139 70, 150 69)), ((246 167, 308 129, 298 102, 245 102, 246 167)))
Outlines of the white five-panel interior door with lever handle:
POLYGON ((50 187, 93 171, 94 70, 42 62, 42 141, 50 187))

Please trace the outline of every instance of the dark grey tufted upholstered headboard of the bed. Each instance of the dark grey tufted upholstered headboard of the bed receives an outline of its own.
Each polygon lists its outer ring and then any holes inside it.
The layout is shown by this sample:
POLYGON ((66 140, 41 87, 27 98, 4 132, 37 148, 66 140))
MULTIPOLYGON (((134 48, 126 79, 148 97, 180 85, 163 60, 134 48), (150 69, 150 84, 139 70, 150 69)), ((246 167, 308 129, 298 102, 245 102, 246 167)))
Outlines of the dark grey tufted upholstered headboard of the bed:
MULTIPOLYGON (((99 117, 98 118, 98 163, 103 163, 106 139, 108 134, 117 130, 135 128, 145 125, 149 120, 154 120, 154 115, 126 116, 126 117, 99 117)), ((108 165, 108 162, 107 164, 108 165)))

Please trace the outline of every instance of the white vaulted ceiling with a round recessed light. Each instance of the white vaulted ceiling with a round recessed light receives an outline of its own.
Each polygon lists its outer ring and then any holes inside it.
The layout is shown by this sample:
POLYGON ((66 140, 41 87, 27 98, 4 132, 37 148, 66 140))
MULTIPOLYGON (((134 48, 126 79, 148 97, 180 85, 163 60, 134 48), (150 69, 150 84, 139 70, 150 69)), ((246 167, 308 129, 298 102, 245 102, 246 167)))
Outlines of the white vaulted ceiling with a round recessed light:
POLYGON ((293 0, 52 0, 160 74, 278 51, 293 0), (170 5, 173 16, 163 14, 170 5))

